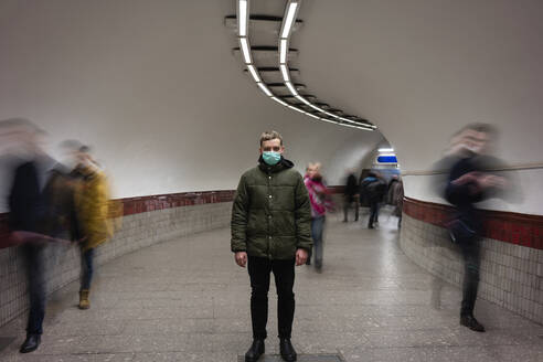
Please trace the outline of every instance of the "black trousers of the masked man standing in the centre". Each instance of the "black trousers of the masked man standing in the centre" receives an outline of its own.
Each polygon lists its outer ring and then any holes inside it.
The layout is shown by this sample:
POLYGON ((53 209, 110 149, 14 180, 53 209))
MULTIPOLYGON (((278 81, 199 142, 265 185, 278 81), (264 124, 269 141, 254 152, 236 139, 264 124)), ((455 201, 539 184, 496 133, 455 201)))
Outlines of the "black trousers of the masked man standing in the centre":
POLYGON ((277 288, 277 319, 279 338, 290 338, 295 312, 294 281, 295 259, 269 260, 263 257, 248 257, 251 277, 251 319, 253 338, 266 339, 268 322, 269 275, 274 273, 277 288))

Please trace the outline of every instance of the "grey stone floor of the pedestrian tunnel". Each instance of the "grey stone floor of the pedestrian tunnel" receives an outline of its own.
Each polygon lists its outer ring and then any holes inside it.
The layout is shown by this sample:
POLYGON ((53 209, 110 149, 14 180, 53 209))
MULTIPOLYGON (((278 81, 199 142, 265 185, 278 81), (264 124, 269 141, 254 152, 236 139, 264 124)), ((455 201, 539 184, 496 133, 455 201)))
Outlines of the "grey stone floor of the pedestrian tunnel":
MULTIPOLYGON (((297 268, 292 342, 300 361, 543 361, 543 327, 479 300, 487 333, 458 324, 460 291, 398 248, 395 217, 377 230, 328 220, 324 268, 297 268)), ((97 273, 92 309, 77 284, 47 307, 42 345, 21 355, 24 318, 0 329, 15 339, 1 361, 234 362, 251 343, 249 287, 234 264, 230 231, 177 239, 120 257, 97 273)), ((270 287, 266 361, 278 361, 270 287)), ((264 359, 263 359, 264 360, 264 359)))

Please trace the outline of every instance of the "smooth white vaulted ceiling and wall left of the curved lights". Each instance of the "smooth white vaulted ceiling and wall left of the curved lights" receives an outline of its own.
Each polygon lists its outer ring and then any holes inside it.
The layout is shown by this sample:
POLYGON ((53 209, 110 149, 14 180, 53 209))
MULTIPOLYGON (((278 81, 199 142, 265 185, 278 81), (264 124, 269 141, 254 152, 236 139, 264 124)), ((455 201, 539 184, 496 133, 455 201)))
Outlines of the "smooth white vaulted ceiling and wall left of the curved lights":
MULTIPOLYGON (((299 170, 333 160, 328 178, 339 182, 341 164, 354 166, 353 152, 382 136, 313 121, 262 95, 231 52, 224 17, 234 9, 225 0, 3 0, 0 119, 28 117, 54 145, 91 143, 116 196, 235 188, 265 129, 283 132, 299 170)), ((321 84, 316 70, 311 86, 321 84)))

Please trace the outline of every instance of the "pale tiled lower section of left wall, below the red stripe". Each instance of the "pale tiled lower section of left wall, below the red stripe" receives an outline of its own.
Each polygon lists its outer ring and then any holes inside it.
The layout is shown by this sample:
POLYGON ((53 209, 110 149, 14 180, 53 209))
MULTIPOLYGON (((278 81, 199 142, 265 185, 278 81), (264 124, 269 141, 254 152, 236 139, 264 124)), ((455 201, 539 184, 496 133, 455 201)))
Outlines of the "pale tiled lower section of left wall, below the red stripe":
MULTIPOLYGON (((125 216, 123 228, 97 248, 96 263, 139 248, 213 228, 231 221, 232 202, 158 210, 125 216)), ((182 241, 180 241, 182 242, 182 241)), ((49 245, 45 251, 49 294, 79 277, 79 251, 73 246, 49 245)), ((26 278, 18 247, 0 249, 0 326, 28 309, 26 278)))

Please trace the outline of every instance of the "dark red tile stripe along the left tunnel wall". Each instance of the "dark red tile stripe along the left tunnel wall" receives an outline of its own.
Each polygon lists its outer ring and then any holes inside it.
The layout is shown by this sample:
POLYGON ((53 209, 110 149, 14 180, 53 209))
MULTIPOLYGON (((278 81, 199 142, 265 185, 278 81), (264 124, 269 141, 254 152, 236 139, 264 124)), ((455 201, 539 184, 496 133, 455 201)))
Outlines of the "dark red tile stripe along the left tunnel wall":
MULTIPOLYGON (((143 212, 183 207, 201 204, 230 202, 234 200, 235 190, 180 192, 161 195, 118 199, 123 204, 123 215, 143 212)), ((8 246, 8 213, 0 213, 0 248, 8 246)))

